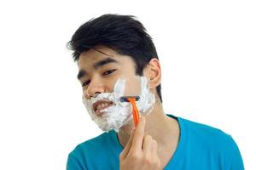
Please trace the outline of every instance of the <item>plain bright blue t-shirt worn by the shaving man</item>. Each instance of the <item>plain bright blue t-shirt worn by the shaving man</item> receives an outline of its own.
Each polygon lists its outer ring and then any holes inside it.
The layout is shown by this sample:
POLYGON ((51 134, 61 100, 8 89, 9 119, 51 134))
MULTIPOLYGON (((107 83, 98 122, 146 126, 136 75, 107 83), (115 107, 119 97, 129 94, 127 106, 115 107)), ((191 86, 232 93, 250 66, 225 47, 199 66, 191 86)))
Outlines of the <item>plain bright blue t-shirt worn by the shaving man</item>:
MULTIPOLYGON (((164 169, 244 169, 240 151, 229 134, 214 127, 168 116, 177 119, 180 138, 177 150, 164 169)), ((118 170, 119 154, 122 150, 116 132, 102 133, 94 139, 79 144, 69 154, 67 169, 118 170)))

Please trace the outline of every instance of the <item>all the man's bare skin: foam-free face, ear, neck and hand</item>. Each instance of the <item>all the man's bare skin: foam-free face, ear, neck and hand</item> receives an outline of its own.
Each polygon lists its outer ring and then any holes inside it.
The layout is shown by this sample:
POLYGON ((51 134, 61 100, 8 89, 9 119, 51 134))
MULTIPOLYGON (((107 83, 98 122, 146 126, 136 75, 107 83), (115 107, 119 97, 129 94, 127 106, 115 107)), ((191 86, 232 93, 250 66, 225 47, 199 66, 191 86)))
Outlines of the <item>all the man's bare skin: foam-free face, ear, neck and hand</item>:
MULTIPOLYGON (((80 54, 78 64, 79 71, 86 72, 79 75, 79 82, 86 99, 96 94, 113 92, 113 86, 119 78, 125 78, 126 87, 132 87, 126 88, 125 94, 133 95, 139 92, 136 64, 130 56, 117 54, 113 49, 104 46, 97 46, 96 50, 90 49, 80 54), (108 58, 115 61, 95 67, 96 63, 108 58)), ((158 59, 149 61, 143 70, 143 77, 147 77, 150 91, 154 94, 156 102, 153 111, 148 116, 140 118, 136 129, 131 120, 119 130, 119 142, 124 148, 119 156, 120 169, 123 170, 163 169, 177 149, 178 123, 164 114, 156 92, 161 79, 158 59)))

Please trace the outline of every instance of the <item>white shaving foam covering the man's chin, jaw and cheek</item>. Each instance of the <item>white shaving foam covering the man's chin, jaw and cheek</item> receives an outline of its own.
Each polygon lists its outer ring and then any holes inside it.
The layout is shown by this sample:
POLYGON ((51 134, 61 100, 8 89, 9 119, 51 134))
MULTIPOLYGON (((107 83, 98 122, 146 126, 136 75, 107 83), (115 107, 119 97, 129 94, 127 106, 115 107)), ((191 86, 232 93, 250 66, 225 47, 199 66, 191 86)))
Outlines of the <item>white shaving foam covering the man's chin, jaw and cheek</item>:
MULTIPOLYGON (((149 91, 146 77, 137 77, 141 82, 141 95, 137 101, 137 109, 140 113, 148 115, 153 109, 155 102, 154 94, 149 91)), ((98 127, 102 131, 115 130, 119 132, 119 129, 125 124, 131 121, 131 104, 128 102, 120 102, 120 98, 125 94, 125 79, 118 79, 113 87, 113 93, 98 94, 96 98, 85 99, 83 95, 83 103, 90 114, 91 119, 96 122, 98 127), (96 116, 92 105, 102 99, 108 99, 112 101, 113 105, 102 110, 102 116, 96 116)))

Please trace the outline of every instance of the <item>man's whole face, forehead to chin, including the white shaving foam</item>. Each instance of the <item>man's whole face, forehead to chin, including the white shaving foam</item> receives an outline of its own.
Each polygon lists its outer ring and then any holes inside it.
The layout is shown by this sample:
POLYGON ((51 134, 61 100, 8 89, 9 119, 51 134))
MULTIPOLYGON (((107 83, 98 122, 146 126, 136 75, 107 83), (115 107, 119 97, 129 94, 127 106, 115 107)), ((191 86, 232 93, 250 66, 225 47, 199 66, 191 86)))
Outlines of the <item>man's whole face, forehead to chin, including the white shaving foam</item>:
POLYGON ((118 131, 131 121, 131 105, 119 102, 121 96, 140 94, 137 105, 141 112, 154 105, 154 94, 150 93, 146 78, 136 76, 131 57, 120 56, 110 48, 97 47, 82 53, 78 78, 84 105, 103 131, 118 131))

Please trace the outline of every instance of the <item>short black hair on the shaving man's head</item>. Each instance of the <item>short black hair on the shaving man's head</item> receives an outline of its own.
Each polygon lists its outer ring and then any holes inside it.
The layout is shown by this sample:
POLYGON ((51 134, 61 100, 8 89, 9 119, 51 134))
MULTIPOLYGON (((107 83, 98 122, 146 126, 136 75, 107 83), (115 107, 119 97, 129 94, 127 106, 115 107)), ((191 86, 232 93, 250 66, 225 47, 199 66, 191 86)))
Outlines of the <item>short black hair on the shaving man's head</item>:
MULTIPOLYGON (((103 14, 79 27, 67 47, 73 50, 73 59, 78 61, 84 51, 104 45, 118 54, 129 55, 137 65, 136 74, 143 76, 143 69, 150 59, 158 59, 152 38, 143 24, 132 15, 103 14)), ((161 86, 157 88, 161 97, 161 86)))

